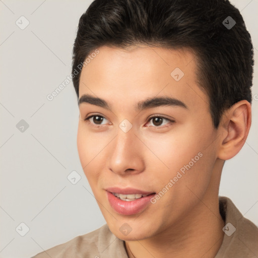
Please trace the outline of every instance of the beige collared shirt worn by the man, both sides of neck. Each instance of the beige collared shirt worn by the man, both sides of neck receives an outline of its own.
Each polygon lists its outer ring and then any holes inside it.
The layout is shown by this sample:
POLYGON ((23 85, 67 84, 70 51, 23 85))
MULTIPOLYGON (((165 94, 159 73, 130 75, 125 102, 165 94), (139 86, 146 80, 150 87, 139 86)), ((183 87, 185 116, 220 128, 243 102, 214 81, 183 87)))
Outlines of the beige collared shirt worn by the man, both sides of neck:
MULTIPOLYGON (((219 197, 225 234, 215 258, 257 258, 258 228, 245 219, 229 198, 219 197), (228 224, 230 223, 230 224, 228 224)), ((31 258, 128 258, 124 241, 107 224, 88 234, 38 253, 31 258)))

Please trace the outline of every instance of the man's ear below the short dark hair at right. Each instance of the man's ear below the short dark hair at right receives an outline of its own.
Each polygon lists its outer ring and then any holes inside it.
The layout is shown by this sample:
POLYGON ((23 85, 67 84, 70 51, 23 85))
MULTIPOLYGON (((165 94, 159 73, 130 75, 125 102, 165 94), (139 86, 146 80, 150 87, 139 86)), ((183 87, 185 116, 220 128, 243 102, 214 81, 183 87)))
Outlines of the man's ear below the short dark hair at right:
POLYGON ((241 100, 230 107, 222 116, 218 158, 233 158, 243 147, 251 126, 251 105, 241 100))

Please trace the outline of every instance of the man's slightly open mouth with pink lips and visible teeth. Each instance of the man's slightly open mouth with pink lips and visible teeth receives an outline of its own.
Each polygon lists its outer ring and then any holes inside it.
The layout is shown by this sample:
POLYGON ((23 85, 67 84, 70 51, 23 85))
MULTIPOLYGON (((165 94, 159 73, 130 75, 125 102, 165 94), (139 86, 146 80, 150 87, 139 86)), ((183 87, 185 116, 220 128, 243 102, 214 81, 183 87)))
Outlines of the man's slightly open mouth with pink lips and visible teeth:
POLYGON ((150 199, 155 195, 155 192, 135 188, 111 187, 107 188, 106 192, 110 206, 121 215, 134 215, 142 212, 151 204, 150 199))

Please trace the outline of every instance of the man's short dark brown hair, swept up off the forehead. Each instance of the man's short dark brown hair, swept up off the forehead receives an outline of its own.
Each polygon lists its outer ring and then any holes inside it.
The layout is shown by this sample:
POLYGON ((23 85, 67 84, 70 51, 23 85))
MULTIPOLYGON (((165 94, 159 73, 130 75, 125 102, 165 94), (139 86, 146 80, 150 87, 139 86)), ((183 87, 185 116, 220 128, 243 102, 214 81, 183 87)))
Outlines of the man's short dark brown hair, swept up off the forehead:
MULTIPOLYGON (((215 128, 227 108, 243 99, 251 103, 251 37, 229 1, 95 0, 79 21, 73 71, 98 47, 139 43, 194 50, 215 128)), ((73 78, 78 98, 80 74, 73 78)))

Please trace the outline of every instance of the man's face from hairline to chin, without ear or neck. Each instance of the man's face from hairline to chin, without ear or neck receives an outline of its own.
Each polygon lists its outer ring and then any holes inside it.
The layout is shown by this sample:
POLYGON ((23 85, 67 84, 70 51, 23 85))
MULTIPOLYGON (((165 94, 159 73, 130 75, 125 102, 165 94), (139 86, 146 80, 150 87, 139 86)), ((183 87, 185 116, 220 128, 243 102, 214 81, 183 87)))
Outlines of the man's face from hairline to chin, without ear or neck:
POLYGON ((217 194, 217 131, 197 79, 191 51, 148 46, 103 46, 82 70, 79 157, 120 239, 179 230, 217 194))

